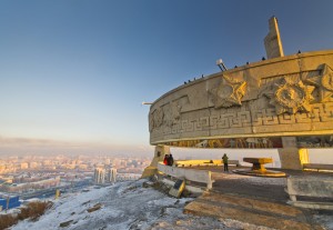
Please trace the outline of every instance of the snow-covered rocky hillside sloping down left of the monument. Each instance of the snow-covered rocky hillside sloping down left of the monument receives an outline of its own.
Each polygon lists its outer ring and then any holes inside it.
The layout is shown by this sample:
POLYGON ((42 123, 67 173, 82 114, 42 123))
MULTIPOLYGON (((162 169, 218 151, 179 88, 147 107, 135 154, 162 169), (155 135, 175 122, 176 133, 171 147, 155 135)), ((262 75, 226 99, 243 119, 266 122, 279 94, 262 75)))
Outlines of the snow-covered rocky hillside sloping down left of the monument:
POLYGON ((61 198, 37 222, 26 220, 12 229, 233 229, 212 218, 183 214, 182 208, 191 199, 170 198, 143 188, 143 182, 120 182, 61 198), (98 210, 92 211, 93 207, 98 210), (68 226, 60 227, 61 223, 68 226))

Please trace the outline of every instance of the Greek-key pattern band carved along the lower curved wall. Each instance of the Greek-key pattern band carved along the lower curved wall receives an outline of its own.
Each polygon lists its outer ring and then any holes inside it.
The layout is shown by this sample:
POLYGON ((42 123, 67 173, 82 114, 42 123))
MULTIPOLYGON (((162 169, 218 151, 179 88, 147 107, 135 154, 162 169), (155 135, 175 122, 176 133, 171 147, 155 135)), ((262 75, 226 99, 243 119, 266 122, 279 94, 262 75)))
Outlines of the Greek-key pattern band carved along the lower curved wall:
MULTIPOLYGON (((283 124, 321 123, 333 121, 333 102, 313 104, 309 113, 282 113, 276 114, 274 108, 260 109, 255 111, 236 111, 222 114, 199 117, 195 119, 180 119, 172 127, 161 127, 152 132, 152 137, 164 134, 178 134, 204 130, 231 130, 253 127, 273 127, 283 124)), ((286 126, 285 131, 289 126, 286 126)), ((243 131, 243 130, 242 130, 243 131)), ((291 130, 293 131, 293 130, 291 130)), ((300 130, 296 130, 300 131, 300 130)), ((249 133, 250 134, 250 133, 249 133)))

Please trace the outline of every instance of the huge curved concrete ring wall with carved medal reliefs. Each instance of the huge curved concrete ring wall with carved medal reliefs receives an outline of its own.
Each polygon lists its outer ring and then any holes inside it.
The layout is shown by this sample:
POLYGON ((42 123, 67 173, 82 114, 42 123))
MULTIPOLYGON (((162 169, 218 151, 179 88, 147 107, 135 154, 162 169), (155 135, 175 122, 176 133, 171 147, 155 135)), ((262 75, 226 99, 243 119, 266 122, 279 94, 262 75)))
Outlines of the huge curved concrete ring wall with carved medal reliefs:
POLYGON ((281 137, 292 136, 305 147, 332 147, 332 96, 333 50, 246 64, 185 83, 154 101, 150 142, 282 148, 281 137))

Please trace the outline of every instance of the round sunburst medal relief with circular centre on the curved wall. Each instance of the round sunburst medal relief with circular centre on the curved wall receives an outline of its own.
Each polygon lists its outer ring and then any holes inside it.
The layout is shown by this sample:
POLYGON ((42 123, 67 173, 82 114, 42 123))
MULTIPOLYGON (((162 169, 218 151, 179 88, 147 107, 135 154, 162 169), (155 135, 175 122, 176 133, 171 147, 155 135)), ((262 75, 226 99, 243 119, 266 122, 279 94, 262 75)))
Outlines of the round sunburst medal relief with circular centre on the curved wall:
POLYGON ((312 91, 314 87, 304 86, 303 82, 294 77, 284 78, 275 84, 272 92, 265 93, 271 98, 270 104, 275 107, 276 114, 287 112, 294 114, 300 112, 310 112, 310 102, 313 99, 312 91))

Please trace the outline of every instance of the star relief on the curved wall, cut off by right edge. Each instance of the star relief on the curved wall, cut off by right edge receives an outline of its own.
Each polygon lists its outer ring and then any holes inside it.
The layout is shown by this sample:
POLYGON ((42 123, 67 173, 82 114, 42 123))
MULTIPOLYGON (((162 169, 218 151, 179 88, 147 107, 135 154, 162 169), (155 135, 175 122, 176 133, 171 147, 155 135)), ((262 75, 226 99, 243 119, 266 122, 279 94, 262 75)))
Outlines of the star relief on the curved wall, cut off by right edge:
POLYGON ((333 94, 333 70, 327 64, 324 64, 321 76, 305 80, 310 84, 319 88, 320 102, 331 101, 333 94))

